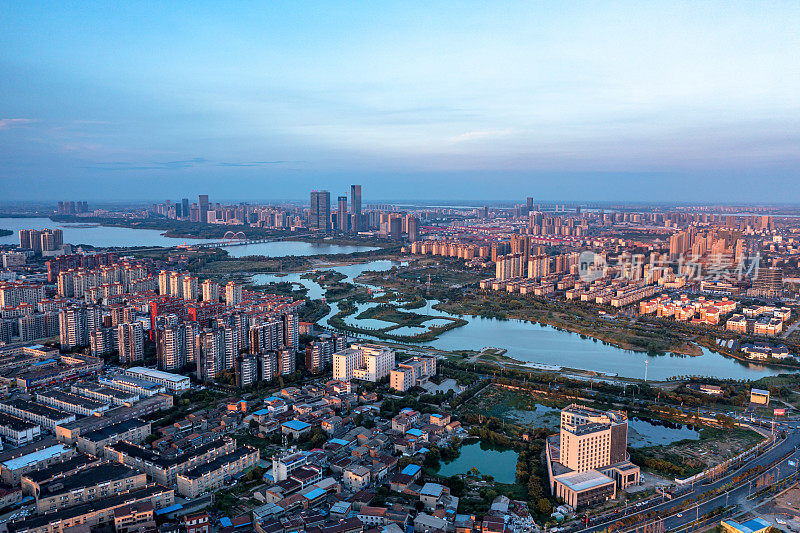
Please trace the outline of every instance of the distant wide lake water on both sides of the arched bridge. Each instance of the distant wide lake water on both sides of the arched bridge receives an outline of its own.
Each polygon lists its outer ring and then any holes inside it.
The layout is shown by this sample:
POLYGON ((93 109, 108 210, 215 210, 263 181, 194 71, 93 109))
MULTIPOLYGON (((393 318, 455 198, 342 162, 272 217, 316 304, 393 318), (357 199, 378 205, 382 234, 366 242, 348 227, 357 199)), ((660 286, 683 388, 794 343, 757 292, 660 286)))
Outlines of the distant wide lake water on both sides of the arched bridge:
MULTIPOLYGON (((0 244, 19 244, 21 229, 56 229, 64 231, 64 242, 70 244, 90 244, 99 248, 129 246, 177 246, 179 244, 198 244, 208 242, 207 239, 188 239, 165 237, 164 231, 155 229, 118 228, 114 226, 96 226, 83 223, 53 222, 49 218, 0 218, 0 229, 13 231, 11 235, 0 237, 0 244)), ((216 239, 221 240, 221 239, 216 239)), ((231 257, 248 255, 268 255, 285 257, 289 255, 331 255, 368 252, 376 250, 373 246, 341 245, 329 243, 313 243, 300 241, 276 241, 245 244, 242 246, 226 246, 231 257)))

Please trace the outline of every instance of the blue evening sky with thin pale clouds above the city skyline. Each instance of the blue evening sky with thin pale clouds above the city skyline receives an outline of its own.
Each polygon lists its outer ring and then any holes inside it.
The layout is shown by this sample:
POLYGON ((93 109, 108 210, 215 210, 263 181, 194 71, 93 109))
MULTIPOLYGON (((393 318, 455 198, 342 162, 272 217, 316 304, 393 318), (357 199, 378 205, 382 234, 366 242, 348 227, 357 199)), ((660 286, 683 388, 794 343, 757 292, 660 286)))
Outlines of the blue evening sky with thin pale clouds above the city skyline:
POLYGON ((794 201, 796 2, 5 2, 0 198, 794 201))

